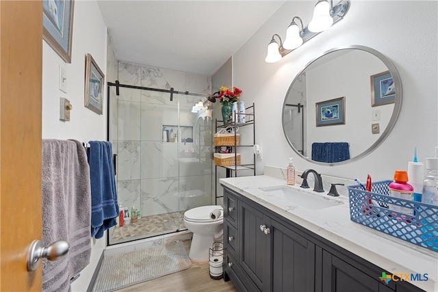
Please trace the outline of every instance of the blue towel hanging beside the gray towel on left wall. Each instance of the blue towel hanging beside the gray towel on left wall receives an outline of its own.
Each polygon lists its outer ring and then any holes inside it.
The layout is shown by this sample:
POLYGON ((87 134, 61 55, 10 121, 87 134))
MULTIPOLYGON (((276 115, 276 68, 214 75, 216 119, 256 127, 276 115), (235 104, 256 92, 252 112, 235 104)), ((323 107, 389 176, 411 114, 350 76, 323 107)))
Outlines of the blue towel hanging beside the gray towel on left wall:
POLYGON ((110 142, 90 141, 91 236, 99 239, 117 224, 118 202, 112 146, 110 142))

